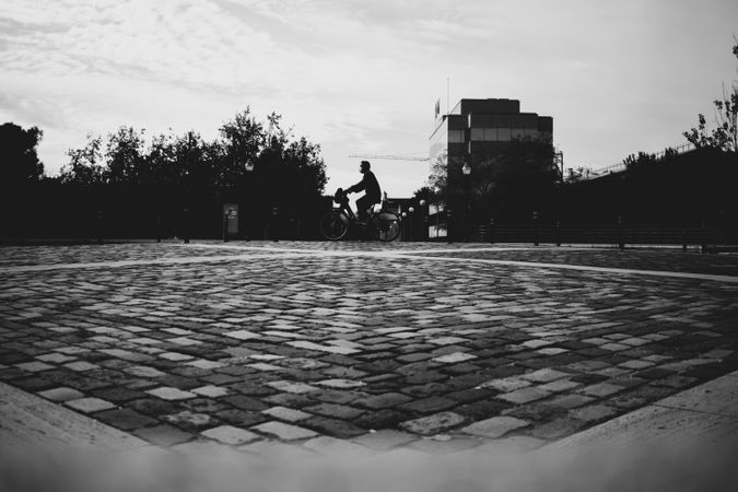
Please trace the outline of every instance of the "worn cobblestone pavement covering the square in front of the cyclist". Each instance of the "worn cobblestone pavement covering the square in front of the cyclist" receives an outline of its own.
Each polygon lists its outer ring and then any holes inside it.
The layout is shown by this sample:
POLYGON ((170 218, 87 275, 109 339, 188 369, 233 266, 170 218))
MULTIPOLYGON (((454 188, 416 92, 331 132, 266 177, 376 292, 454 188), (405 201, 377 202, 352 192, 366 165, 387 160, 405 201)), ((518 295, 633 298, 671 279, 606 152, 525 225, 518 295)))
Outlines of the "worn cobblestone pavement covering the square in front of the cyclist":
POLYGON ((530 448, 738 368, 736 272, 679 249, 4 247, 0 380, 175 448, 530 448))

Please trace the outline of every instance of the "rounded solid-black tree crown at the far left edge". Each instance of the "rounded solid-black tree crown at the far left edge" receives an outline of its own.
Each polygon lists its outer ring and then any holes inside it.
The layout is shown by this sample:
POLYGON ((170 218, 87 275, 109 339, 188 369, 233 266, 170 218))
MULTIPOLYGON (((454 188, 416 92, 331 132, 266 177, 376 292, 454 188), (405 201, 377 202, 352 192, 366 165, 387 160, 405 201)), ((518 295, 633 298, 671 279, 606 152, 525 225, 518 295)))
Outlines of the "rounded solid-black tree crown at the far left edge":
POLYGON ((37 181, 44 175, 44 164, 36 153, 43 137, 38 127, 24 130, 12 122, 0 126, 0 181, 12 186, 37 181))

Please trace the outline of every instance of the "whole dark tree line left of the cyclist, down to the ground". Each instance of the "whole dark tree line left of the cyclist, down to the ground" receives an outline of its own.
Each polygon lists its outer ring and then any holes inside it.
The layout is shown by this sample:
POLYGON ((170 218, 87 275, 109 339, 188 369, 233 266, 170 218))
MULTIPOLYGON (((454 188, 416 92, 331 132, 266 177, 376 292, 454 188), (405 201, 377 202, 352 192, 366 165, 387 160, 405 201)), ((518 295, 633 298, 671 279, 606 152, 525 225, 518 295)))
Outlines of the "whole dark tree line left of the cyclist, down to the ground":
MULTIPOLYGON (((280 115, 272 113, 262 121, 248 107, 224 122, 212 140, 196 131, 147 138, 145 129, 127 126, 105 137, 87 136, 83 145, 68 150, 57 176, 44 174, 36 151, 42 138, 37 127, 0 127, 2 215, 15 229, 25 219, 8 215, 45 203, 46 211, 37 215, 67 208, 67 221, 80 214, 105 215, 108 222, 156 220, 164 223, 165 234, 176 234, 186 213, 192 234, 216 236, 221 207, 229 202, 250 216, 249 227, 258 236, 274 209, 280 220, 304 222, 321 203, 327 181, 319 144, 295 137, 280 115)), ((152 229, 147 233, 153 234, 152 229)))

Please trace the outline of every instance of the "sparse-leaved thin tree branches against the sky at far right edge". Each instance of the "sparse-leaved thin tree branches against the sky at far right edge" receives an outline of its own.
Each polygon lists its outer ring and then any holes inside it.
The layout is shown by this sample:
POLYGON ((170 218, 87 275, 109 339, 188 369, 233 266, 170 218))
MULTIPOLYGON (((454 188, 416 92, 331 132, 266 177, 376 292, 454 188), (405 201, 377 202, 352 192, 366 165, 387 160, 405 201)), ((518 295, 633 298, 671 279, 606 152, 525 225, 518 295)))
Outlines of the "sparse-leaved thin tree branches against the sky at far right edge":
MULTIPOLYGON (((738 39, 733 46, 733 55, 738 58, 738 39)), ((723 98, 713 101, 716 127, 707 131, 704 115, 698 115, 698 127, 682 134, 698 149, 712 148, 727 152, 738 152, 738 81, 734 81, 733 92, 727 94, 723 87, 723 98)))

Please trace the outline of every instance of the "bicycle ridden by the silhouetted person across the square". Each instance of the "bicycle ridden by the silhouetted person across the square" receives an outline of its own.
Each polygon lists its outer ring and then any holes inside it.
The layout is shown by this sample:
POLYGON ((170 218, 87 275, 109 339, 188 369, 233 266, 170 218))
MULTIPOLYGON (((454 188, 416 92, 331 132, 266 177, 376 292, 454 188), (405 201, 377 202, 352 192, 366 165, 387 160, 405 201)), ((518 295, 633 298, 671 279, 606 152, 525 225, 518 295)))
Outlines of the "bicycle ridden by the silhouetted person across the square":
POLYGON ((320 234, 326 239, 339 241, 351 229, 360 229, 366 235, 371 233, 373 238, 385 243, 395 241, 400 235, 400 218, 395 212, 384 210, 384 208, 375 212, 372 207, 367 222, 363 223, 356 219, 349 207, 349 197, 342 188, 336 191, 333 201, 338 203, 338 207, 320 219, 320 234))

